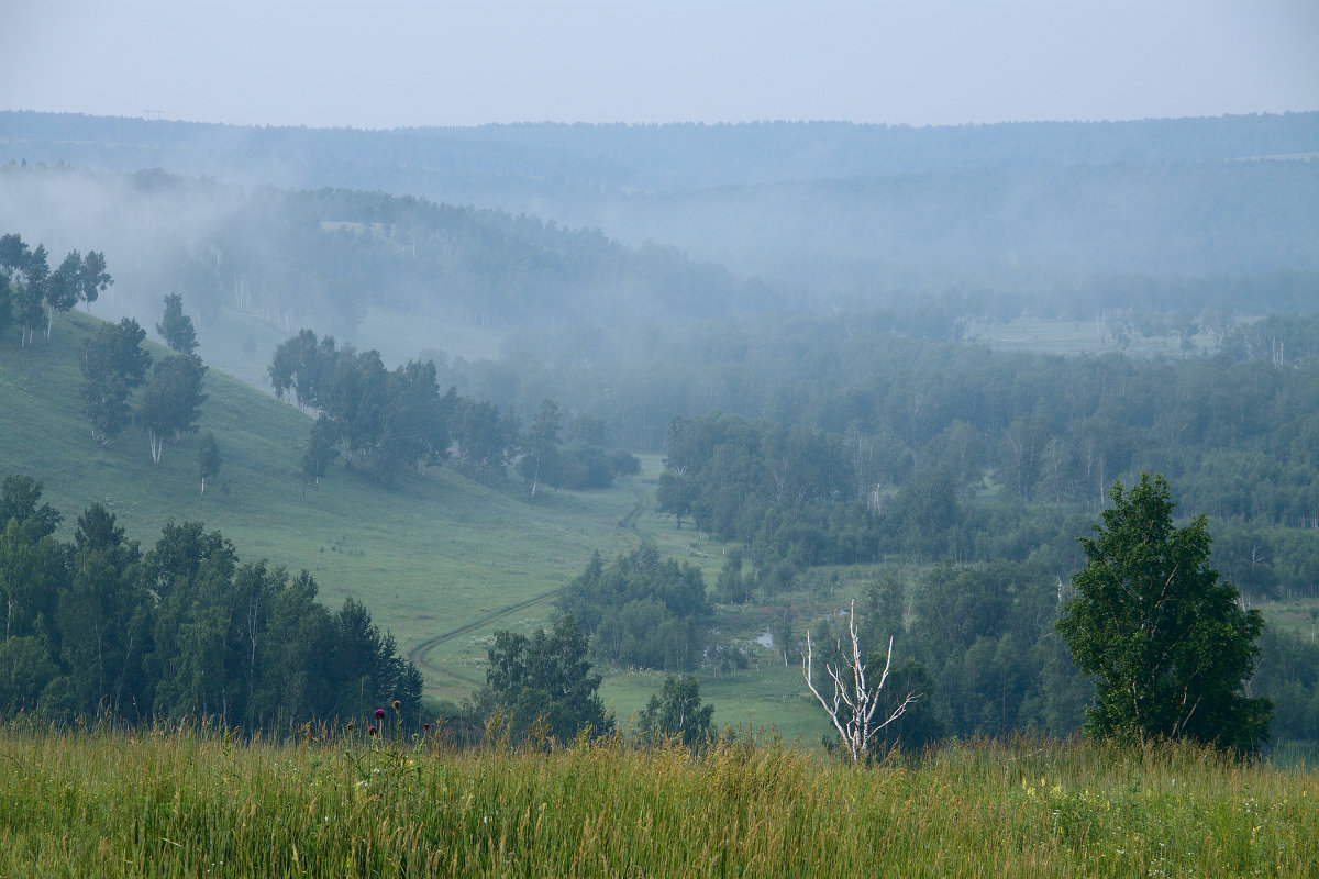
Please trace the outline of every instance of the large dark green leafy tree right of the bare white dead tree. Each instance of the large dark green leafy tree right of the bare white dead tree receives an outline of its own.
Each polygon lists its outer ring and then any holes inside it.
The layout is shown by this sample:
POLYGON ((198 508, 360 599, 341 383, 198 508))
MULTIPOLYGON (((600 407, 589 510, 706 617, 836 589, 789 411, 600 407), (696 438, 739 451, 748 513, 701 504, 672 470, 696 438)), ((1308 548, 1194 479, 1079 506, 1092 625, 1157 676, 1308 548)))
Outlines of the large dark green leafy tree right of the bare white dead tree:
POLYGON ((1272 704, 1246 696, 1245 685, 1264 618, 1208 567, 1204 515, 1175 527, 1159 474, 1142 473, 1129 492, 1115 482, 1108 496, 1096 536, 1080 540, 1087 564, 1058 621, 1076 664, 1095 679, 1088 730, 1257 752, 1272 704))

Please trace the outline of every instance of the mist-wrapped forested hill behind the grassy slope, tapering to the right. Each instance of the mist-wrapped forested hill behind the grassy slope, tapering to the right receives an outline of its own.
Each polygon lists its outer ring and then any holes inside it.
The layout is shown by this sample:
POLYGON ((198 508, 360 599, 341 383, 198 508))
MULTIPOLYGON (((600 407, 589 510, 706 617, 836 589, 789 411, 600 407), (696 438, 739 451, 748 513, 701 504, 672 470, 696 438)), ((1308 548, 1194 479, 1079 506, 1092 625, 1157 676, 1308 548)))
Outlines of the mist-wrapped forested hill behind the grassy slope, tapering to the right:
POLYGON ((0 228, 54 249, 103 242, 109 307, 152 314, 177 291, 202 328, 222 307, 284 333, 353 335, 379 306, 485 328, 620 315, 671 319, 760 310, 765 285, 497 210, 356 190, 245 190, 161 170, 0 167, 0 228))

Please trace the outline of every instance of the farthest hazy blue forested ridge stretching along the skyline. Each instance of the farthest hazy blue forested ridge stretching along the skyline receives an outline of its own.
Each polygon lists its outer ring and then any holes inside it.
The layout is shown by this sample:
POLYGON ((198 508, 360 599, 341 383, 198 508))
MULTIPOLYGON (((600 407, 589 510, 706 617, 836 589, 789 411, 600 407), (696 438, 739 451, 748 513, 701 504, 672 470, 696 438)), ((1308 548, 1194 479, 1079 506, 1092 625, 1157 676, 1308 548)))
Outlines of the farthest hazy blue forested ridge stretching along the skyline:
MULTIPOLYGON (((598 278, 637 294, 625 299, 645 303, 652 316, 698 306, 703 315, 723 299, 708 283, 675 278, 681 264, 657 262, 648 242, 783 285, 781 302, 793 310, 910 303, 958 289, 977 291, 985 312, 1089 318, 1151 300, 1199 311, 1242 287, 1253 314, 1297 310, 1294 295, 1273 289, 1312 287, 1319 273, 1315 157, 1319 113, 919 129, 388 132, 0 113, 0 163, 164 167, 248 187, 380 191, 499 208, 505 220, 525 213, 598 228, 644 252, 621 275, 598 278), (662 303, 644 295, 657 289, 652 278, 633 283, 641 265, 677 282, 658 283, 662 303)), ((11 225, 55 237, 26 217, 11 225)), ((533 241, 551 252, 567 246, 533 241)), ((583 244, 567 249, 580 256, 583 244)), ((496 256, 513 266, 512 282, 484 277, 493 264, 481 262, 480 283, 508 290, 508 306, 526 308, 516 273, 543 254, 496 256)), ((554 285, 571 269, 550 269, 539 273, 549 285, 537 287, 559 299, 554 285)), ((743 293, 741 303, 765 298, 743 293)), ((612 300, 592 300, 588 311, 612 300)))

